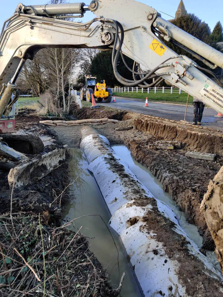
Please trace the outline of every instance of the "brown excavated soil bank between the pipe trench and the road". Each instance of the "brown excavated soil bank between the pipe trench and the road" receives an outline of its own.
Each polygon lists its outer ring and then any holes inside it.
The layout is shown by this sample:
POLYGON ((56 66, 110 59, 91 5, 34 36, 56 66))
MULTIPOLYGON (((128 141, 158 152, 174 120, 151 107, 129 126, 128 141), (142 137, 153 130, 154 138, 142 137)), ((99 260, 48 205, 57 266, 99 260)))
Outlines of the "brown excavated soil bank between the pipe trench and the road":
MULTIPOLYGON (((132 156, 148 168, 163 184, 179 208, 186 213, 188 222, 194 223, 203 236, 203 248, 214 250, 215 246, 207 228, 203 213, 199 207, 210 179, 223 165, 223 138, 221 131, 203 127, 193 127, 166 119, 127 113, 99 107, 95 110, 83 108, 75 117, 115 118, 122 120, 117 124, 94 126, 111 144, 125 144, 132 156), (127 131, 116 131, 118 127, 133 126, 127 131), (156 140, 178 140, 181 149, 148 149, 148 144, 156 140), (187 151, 215 153, 214 161, 198 160, 185 156, 187 151)), ((64 144, 79 147, 81 142, 80 127, 53 127, 64 144)))

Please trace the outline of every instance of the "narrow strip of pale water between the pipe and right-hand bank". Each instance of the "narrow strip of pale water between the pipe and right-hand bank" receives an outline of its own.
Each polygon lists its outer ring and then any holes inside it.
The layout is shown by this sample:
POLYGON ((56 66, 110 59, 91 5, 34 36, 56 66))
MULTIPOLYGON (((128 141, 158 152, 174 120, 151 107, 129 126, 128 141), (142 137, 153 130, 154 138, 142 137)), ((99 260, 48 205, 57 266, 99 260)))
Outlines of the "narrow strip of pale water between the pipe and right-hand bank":
MULTIPOLYGON (((131 155, 131 152, 125 145, 115 144, 112 145, 112 149, 120 157, 120 159, 128 164, 129 169, 136 175, 136 177, 141 181, 141 183, 160 201, 163 201, 169 206, 175 213, 180 226, 186 231, 187 235, 192 239, 197 246, 200 248, 202 246, 202 236, 199 235, 198 229, 195 225, 190 224, 186 220, 186 215, 184 212, 178 209, 177 205, 171 198, 171 196, 164 192, 162 184, 157 178, 148 170, 146 167, 138 163, 131 155)), ((212 261, 215 267, 221 271, 218 261, 216 259, 215 252, 206 251, 208 258, 212 261)))

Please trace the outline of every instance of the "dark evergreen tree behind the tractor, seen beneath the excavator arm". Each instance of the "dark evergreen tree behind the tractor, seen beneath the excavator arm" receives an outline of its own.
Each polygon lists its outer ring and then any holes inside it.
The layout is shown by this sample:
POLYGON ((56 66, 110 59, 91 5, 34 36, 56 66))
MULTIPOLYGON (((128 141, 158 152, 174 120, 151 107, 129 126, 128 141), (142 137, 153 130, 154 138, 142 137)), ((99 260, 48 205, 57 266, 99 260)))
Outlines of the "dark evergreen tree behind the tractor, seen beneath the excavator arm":
MULTIPOLYGON (((133 67, 133 60, 125 56, 126 63, 130 68, 133 67)), ((122 61, 121 56, 118 59, 117 69, 121 76, 132 80, 132 73, 128 71, 122 61)), ((112 50, 99 51, 94 57, 91 64, 91 75, 97 76, 97 81, 105 80, 105 83, 109 87, 119 85, 116 80, 112 68, 112 50)))

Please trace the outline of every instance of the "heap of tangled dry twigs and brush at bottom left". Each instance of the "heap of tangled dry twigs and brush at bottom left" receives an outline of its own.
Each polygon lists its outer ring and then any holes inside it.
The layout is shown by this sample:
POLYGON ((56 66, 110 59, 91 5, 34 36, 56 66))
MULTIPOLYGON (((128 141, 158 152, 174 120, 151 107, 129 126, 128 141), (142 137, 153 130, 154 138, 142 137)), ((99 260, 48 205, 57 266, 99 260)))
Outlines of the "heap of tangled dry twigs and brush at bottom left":
POLYGON ((64 296, 90 297, 95 292, 97 296, 113 296, 105 272, 80 229, 73 232, 64 226, 44 226, 42 216, 40 221, 32 213, 0 216, 1 255, 7 268, 0 273, 0 296, 42 297, 44 292, 54 297, 62 292, 64 296), (12 232, 17 236, 12 238, 12 232))

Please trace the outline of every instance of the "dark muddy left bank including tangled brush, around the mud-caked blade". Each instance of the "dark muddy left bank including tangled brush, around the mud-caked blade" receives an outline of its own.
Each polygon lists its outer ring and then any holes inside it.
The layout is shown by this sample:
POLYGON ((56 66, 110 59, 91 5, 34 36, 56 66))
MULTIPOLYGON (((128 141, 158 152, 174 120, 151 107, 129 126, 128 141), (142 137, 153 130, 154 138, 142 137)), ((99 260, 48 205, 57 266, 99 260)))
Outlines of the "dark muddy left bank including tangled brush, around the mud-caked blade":
MULTIPOLYGON (((40 125, 41 118, 32 113, 33 110, 20 110, 13 133, 41 137, 45 143, 43 153, 62 147, 57 134, 40 125)), ((67 167, 65 161, 36 183, 13 191, 8 185, 8 172, 0 168, 0 253, 3 257, 0 260, 0 296, 37 297, 43 296, 43 290, 50 296, 50 293, 55 296, 117 296, 118 292, 111 290, 107 272, 90 252, 88 240, 67 229, 69 223, 61 226, 63 200, 69 199, 68 191, 64 191, 70 183, 67 167), (37 263, 33 267, 41 282, 37 282, 33 272, 24 265, 21 254, 31 266, 37 263), (43 286, 45 276, 46 288, 43 286)))

